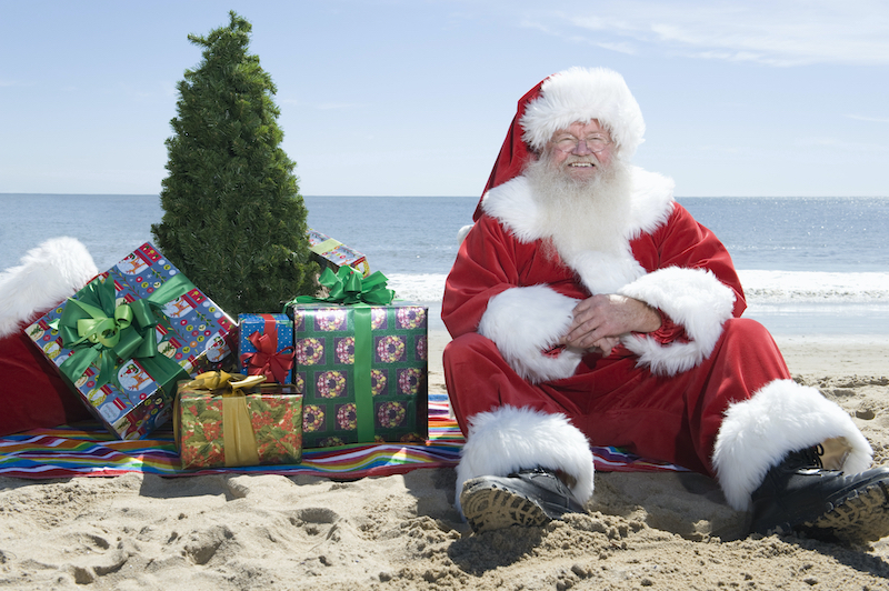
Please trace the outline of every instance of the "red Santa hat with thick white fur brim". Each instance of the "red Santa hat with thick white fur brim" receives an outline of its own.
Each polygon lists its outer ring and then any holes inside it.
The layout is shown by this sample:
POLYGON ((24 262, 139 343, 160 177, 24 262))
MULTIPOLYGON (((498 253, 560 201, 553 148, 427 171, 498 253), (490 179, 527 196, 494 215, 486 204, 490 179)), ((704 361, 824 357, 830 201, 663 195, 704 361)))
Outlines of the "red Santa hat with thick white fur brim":
MULTIPOLYGON (((570 68, 541 81, 519 100, 485 192, 521 174, 531 154, 540 152, 556 131, 592 119, 608 130, 625 159, 643 141, 642 111, 623 77, 613 70, 570 68)), ((481 201, 472 219, 480 216, 481 201)))

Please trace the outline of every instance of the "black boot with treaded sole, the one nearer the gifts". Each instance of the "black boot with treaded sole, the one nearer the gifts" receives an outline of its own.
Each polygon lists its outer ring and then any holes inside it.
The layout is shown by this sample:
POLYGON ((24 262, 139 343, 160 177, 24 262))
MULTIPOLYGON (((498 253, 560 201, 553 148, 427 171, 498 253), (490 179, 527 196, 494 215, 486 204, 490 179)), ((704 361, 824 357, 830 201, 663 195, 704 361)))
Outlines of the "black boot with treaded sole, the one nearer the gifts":
POLYGON ((583 505, 552 470, 535 468, 508 477, 467 480, 460 504, 472 531, 510 525, 543 525, 565 513, 582 513, 583 505))

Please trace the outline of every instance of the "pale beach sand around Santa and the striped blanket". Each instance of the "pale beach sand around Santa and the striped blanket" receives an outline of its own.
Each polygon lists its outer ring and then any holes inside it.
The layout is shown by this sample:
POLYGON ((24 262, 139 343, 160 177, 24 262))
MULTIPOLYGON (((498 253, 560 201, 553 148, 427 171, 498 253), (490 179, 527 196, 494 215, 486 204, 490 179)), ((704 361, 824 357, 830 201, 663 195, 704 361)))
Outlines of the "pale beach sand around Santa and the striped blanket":
MULTIPOLYGON (((444 391, 430 332, 430 373, 444 391)), ((795 379, 855 419, 889 463, 889 344, 778 338, 795 379)), ((889 538, 843 548, 746 534, 692 473, 596 474, 588 514, 471 534, 455 472, 334 482, 212 475, 0 478, 9 589, 889 589, 889 538)))

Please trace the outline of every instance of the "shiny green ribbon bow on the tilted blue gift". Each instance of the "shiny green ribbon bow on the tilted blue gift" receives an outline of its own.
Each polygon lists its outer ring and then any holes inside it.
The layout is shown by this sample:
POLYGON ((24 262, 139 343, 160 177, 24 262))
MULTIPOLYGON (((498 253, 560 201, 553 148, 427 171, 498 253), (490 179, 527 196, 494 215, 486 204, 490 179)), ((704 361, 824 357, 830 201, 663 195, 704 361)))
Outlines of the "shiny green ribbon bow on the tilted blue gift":
POLYGON ((69 298, 61 318, 52 323, 62 335, 62 345, 71 357, 59 367, 76 382, 97 363, 97 387, 114 378, 119 359, 139 359, 158 384, 173 379, 188 379, 188 372, 176 361, 158 352, 154 327, 157 310, 194 289, 182 274, 173 276, 146 299, 116 303, 113 280, 96 280, 69 298))

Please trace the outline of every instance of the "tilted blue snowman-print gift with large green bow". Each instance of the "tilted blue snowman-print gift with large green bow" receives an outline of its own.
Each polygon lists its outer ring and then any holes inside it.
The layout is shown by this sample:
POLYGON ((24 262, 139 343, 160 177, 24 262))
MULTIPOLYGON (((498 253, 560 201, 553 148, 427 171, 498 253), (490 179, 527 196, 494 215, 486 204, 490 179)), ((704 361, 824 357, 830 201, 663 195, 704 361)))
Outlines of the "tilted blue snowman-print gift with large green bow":
POLYGON ((178 381, 228 355, 233 328, 144 243, 26 333, 111 433, 139 439, 169 420, 178 381))

